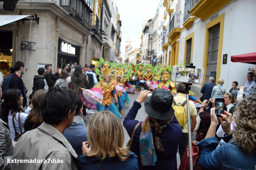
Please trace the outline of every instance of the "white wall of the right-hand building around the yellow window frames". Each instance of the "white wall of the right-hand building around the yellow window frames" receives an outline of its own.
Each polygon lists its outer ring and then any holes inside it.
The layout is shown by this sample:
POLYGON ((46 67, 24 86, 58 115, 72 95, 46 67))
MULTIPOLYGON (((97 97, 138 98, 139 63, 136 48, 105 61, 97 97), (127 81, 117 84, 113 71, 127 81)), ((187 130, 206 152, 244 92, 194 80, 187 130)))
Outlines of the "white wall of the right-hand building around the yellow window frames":
MULTIPOLYGON (((223 54, 228 54, 227 64, 222 64, 220 78, 225 80, 223 87, 228 91, 233 81, 238 82, 238 87, 244 86, 247 81, 249 67, 254 64, 231 62, 231 56, 256 52, 256 1, 238 0, 231 2, 228 6, 218 11, 218 16, 224 13, 223 30, 223 54)), ((215 13, 215 14, 217 14, 215 13)), ((215 15, 214 14, 214 15, 215 15)), ((203 67, 204 41, 206 24, 210 18, 202 22, 196 19, 193 25, 187 30, 184 29, 180 34, 179 63, 184 60, 185 37, 194 32, 193 63, 196 67, 203 67), (183 52, 181 52, 183 50, 183 52)), ((184 63, 185 61, 183 61, 184 63)), ((205 80, 208 82, 208 80, 205 80)), ((197 85, 201 87, 201 85, 197 85)))

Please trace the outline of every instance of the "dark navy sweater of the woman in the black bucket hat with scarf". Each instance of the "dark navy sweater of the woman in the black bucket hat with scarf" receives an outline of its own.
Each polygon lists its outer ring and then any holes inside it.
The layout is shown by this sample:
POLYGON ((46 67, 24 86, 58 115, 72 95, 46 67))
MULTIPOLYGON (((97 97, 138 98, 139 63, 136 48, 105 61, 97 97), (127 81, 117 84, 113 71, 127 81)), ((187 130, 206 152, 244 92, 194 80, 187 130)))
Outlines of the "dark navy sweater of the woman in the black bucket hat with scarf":
MULTIPOLYGON (((123 126, 127 130, 129 136, 132 136, 135 125, 139 122, 134 120, 138 110, 141 108, 139 102, 134 101, 133 107, 129 110, 127 116, 124 118, 123 126)), ((146 117, 145 117, 146 118, 146 117)), ((153 138, 155 137, 155 128, 151 126, 153 138)), ((157 161, 155 166, 142 166, 140 159, 140 134, 141 125, 136 129, 132 146, 130 150, 138 157, 138 164, 140 170, 177 170, 177 158, 176 154, 178 151, 178 144, 181 141, 182 129, 178 124, 176 117, 174 116, 173 121, 163 127, 160 139, 163 145, 163 152, 156 151, 157 161)))

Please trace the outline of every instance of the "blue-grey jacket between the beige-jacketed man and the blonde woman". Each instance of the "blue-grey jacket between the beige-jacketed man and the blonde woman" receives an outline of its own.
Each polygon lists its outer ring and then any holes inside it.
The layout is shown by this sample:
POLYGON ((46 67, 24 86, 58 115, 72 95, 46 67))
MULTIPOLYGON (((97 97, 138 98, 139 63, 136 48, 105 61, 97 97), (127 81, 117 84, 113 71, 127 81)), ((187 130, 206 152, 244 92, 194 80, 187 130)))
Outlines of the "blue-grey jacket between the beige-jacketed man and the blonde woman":
POLYGON ((72 125, 65 130, 63 135, 66 137, 72 148, 78 156, 83 155, 82 143, 87 141, 88 131, 82 124, 72 123, 72 125))

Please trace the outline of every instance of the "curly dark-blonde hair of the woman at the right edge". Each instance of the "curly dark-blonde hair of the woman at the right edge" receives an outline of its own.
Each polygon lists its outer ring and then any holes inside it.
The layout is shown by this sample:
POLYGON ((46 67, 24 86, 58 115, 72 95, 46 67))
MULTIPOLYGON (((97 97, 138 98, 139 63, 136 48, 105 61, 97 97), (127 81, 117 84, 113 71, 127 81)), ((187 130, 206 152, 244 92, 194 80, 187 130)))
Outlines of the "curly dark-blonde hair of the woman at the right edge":
POLYGON ((256 154, 256 95, 250 95, 236 106, 234 141, 248 153, 256 154))

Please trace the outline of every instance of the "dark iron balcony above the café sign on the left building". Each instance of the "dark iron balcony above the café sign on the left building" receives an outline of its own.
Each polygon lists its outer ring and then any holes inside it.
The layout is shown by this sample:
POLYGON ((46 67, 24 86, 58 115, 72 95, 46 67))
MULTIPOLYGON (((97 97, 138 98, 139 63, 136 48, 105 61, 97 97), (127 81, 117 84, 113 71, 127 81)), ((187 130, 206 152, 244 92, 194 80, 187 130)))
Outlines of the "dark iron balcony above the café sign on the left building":
POLYGON ((91 13, 93 12, 84 0, 56 0, 73 18, 78 20, 83 26, 90 29, 91 13))

